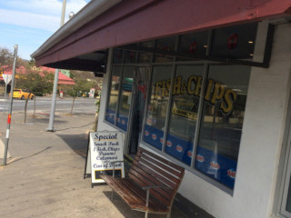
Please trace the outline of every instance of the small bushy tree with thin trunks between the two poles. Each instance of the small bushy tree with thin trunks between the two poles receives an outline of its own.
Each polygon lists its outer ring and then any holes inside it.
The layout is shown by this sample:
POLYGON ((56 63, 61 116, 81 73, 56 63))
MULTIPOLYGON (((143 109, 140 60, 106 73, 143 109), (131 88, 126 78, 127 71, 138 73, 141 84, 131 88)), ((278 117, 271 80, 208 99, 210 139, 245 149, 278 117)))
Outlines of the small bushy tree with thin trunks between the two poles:
MULTIPOLYGON (((36 68, 26 65, 25 72, 18 73, 19 78, 15 81, 15 86, 21 89, 26 89, 29 92, 28 98, 25 100, 25 123, 27 103, 31 94, 51 93, 53 90, 54 74, 47 72, 39 72, 36 68)), ((36 98, 36 97, 35 97, 36 98)), ((34 98, 34 100, 35 100, 34 98)), ((35 102, 34 102, 35 115, 35 102)))

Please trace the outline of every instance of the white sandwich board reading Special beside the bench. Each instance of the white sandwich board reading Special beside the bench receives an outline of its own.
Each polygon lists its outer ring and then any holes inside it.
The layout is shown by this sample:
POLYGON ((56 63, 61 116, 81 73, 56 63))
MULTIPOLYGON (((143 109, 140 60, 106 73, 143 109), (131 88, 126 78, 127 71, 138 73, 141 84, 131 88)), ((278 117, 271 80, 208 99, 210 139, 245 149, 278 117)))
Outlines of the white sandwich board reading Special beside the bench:
POLYGON ((125 178, 123 135, 120 132, 95 132, 89 134, 85 174, 91 173, 92 187, 105 183, 100 174, 113 174, 125 178))

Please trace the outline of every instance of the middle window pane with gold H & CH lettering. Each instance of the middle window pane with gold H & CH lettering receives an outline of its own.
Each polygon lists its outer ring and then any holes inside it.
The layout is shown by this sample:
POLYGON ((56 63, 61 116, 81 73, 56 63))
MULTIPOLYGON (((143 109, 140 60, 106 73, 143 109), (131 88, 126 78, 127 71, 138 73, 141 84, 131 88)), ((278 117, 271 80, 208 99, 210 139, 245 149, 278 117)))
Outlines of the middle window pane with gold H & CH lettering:
POLYGON ((174 81, 166 153, 190 165, 204 65, 178 65, 174 81))

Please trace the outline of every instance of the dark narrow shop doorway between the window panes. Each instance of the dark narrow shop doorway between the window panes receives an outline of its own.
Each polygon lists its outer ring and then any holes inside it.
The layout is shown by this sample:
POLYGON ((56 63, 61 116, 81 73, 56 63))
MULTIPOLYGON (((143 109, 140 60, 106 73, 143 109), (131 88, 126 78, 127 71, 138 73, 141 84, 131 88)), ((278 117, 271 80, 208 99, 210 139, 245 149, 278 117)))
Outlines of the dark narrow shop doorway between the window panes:
POLYGON ((132 95, 132 106, 127 134, 127 154, 136 154, 137 147, 142 135, 142 124, 146 105, 146 90, 150 74, 149 66, 136 66, 134 87, 132 95))

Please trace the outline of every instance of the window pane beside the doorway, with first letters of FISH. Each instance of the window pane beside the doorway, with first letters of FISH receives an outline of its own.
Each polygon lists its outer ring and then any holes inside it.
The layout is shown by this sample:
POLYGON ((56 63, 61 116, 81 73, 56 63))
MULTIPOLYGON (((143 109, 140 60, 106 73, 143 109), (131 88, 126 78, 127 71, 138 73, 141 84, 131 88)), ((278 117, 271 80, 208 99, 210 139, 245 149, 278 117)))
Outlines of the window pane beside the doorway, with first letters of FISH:
POLYGON ((144 140, 160 150, 164 141, 171 72, 172 65, 153 67, 150 101, 147 105, 144 140))

